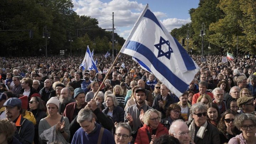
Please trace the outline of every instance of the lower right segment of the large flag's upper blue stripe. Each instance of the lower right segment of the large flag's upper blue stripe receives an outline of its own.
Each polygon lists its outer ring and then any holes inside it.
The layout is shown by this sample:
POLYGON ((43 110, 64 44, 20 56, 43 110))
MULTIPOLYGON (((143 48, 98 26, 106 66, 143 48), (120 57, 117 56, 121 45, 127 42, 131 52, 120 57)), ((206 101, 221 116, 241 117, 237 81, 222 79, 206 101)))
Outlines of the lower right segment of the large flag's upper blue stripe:
POLYGON ((185 62, 185 66, 187 70, 194 70, 196 69, 196 65, 193 62, 193 59, 187 54, 186 50, 181 46, 181 44, 174 38, 174 41, 180 50, 181 57, 183 61, 185 62))

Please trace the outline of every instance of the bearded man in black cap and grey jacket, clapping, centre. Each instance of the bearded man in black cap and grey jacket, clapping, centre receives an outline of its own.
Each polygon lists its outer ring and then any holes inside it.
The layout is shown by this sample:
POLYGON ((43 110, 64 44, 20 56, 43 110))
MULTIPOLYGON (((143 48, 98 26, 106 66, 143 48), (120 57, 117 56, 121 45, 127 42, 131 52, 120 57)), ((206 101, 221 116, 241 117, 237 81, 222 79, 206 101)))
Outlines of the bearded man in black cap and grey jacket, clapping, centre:
POLYGON ((142 115, 152 107, 145 105, 146 92, 145 89, 139 88, 135 91, 135 105, 129 106, 124 114, 124 122, 128 122, 132 131, 137 130, 142 126, 140 118, 142 115), (139 116, 139 117, 138 117, 139 116))

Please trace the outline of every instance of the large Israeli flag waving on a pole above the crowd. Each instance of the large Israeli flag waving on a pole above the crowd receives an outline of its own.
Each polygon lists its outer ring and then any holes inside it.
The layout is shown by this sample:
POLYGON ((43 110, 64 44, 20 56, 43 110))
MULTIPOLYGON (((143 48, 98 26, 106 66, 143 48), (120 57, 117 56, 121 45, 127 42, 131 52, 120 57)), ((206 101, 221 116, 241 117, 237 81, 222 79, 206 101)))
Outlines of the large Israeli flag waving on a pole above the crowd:
POLYGON ((120 52, 144 63, 178 97, 186 91, 199 70, 198 65, 149 10, 148 5, 120 52))

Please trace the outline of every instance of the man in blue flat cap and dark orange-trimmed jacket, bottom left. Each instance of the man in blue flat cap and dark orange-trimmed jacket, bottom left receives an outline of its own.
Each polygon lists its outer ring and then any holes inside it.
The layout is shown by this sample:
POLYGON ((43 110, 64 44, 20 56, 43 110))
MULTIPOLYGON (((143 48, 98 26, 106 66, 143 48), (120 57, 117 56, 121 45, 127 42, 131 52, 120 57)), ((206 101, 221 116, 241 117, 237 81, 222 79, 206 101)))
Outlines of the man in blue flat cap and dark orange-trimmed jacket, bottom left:
POLYGON ((23 118, 21 100, 12 97, 5 103, 6 118, 14 124, 14 137, 17 138, 22 144, 32 144, 34 140, 34 125, 31 121, 23 118))

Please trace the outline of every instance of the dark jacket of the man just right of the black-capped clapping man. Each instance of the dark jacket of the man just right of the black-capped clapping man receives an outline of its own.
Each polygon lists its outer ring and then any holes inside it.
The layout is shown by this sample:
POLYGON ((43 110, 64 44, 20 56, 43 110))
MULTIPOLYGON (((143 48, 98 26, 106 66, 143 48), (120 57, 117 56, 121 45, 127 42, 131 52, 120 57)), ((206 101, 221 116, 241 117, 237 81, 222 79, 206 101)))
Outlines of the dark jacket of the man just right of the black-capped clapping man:
POLYGON ((165 115, 166 115, 165 111, 172 103, 175 103, 175 101, 174 101, 174 98, 168 94, 166 96, 166 102, 165 102, 164 109, 162 109, 161 107, 159 107, 158 101, 160 101, 160 100, 162 101, 162 95, 156 96, 154 99, 152 108, 160 111, 162 113, 162 118, 165 118, 165 115))

